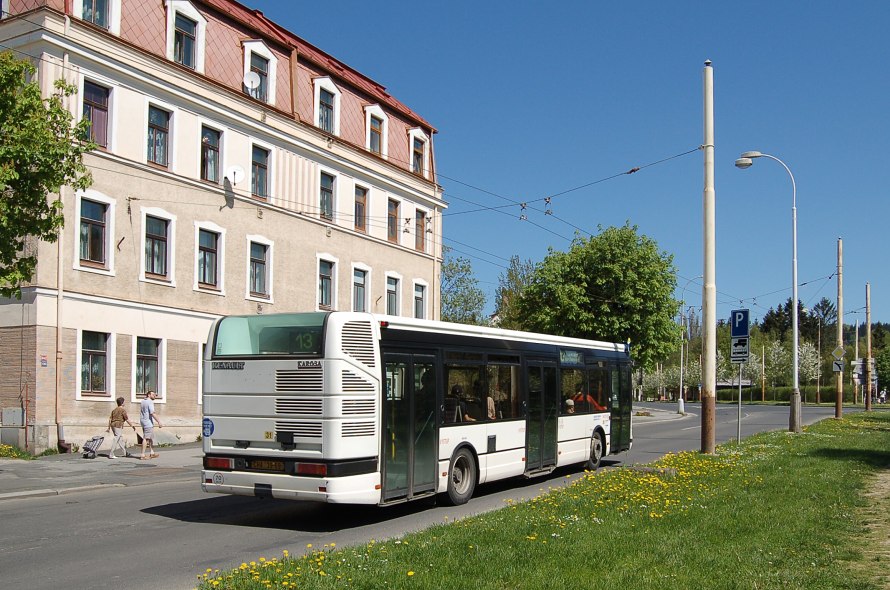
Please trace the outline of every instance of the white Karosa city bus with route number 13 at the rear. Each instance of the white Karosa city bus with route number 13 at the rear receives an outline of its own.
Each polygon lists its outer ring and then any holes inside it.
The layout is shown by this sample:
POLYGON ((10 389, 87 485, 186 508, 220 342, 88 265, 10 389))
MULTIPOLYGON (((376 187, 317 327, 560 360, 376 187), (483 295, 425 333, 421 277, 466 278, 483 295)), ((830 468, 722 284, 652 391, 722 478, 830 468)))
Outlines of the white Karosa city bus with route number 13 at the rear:
POLYGON ((204 357, 207 492, 389 504, 631 444, 627 345, 312 312, 230 316, 204 357))

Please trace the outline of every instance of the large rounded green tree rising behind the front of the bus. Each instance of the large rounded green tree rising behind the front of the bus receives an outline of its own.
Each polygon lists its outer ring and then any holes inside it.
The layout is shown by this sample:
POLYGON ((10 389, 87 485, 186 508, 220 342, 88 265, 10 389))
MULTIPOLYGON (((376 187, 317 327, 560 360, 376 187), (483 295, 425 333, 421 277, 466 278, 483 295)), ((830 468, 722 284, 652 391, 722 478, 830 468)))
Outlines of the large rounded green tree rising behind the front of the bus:
POLYGON ((550 250, 519 298, 519 317, 532 331, 630 341, 636 362, 651 368, 680 339, 673 257, 636 226, 599 229, 576 236, 568 252, 550 250))

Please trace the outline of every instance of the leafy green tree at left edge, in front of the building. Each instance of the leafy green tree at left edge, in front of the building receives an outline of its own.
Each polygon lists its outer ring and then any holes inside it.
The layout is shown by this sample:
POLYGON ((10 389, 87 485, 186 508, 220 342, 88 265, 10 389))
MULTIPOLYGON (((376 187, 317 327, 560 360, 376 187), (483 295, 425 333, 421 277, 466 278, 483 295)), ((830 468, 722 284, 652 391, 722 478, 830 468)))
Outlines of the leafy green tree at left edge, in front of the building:
POLYGON ((95 146, 89 121, 77 125, 63 106, 75 88, 57 81, 48 98, 28 80, 35 68, 0 53, 0 295, 20 297, 31 280, 37 256, 25 246, 31 239, 54 242, 64 224, 63 185, 87 188, 92 178, 83 154, 95 146))

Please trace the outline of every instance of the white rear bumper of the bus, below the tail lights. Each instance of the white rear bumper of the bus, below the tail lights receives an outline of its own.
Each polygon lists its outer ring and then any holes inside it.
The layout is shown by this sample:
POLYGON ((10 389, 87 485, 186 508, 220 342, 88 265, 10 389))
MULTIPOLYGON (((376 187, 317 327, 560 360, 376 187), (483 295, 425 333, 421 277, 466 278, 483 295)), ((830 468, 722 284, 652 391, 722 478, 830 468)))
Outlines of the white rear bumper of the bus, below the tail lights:
POLYGON ((332 504, 380 503, 380 475, 377 473, 324 478, 205 469, 201 472, 201 487, 211 494, 332 504))

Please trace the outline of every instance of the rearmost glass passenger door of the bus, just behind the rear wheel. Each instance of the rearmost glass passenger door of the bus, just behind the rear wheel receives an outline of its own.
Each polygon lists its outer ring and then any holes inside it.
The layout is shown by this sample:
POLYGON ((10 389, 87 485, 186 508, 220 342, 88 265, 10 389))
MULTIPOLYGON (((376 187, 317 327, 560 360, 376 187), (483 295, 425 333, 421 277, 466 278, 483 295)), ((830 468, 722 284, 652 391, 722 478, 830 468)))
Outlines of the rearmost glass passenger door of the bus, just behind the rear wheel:
POLYGON ((383 500, 435 491, 436 359, 384 354, 383 500))

